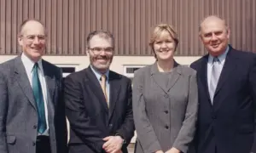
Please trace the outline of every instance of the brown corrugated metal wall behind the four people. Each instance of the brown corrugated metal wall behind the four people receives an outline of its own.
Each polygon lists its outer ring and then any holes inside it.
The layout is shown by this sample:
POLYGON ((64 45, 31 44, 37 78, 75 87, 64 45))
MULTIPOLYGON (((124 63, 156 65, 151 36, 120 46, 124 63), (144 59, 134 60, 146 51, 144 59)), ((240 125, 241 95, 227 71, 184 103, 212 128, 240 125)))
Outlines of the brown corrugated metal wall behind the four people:
POLYGON ((22 20, 43 20, 49 31, 46 54, 85 54, 90 31, 109 30, 116 54, 148 55, 150 27, 167 22, 176 27, 177 55, 202 55, 200 20, 218 14, 231 28, 236 48, 256 52, 255 0, 0 0, 0 54, 19 54, 16 41, 22 20))

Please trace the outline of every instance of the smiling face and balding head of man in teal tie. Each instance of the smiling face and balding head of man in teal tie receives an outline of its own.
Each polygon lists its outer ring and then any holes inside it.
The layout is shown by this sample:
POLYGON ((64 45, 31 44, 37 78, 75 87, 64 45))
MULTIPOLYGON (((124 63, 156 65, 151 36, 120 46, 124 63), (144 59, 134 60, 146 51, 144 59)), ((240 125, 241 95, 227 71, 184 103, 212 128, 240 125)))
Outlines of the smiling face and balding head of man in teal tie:
POLYGON ((21 28, 18 42, 23 54, 37 62, 44 54, 46 45, 44 26, 36 20, 27 21, 21 28))

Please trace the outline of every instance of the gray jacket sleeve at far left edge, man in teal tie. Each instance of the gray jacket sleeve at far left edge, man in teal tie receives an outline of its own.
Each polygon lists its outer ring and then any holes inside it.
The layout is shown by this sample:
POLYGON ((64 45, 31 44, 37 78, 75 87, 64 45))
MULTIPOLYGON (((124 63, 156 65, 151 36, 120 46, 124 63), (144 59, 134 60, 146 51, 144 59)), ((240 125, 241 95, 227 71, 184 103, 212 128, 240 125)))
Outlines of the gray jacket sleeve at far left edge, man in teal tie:
POLYGON ((3 77, 3 70, 0 71, 0 152, 8 153, 6 144, 6 117, 8 111, 8 88, 3 77))

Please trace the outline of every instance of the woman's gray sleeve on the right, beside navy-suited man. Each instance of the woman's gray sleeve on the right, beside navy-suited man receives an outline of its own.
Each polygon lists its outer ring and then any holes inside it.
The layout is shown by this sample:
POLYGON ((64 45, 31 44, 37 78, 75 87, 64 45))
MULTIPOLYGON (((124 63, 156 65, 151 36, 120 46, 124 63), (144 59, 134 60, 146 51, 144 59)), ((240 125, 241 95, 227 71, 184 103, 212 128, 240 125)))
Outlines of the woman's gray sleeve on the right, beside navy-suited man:
POLYGON ((189 144, 194 139, 195 123, 197 120, 198 110, 198 88, 196 82, 196 73, 189 78, 189 99, 186 109, 183 126, 177 134, 177 139, 174 141, 173 148, 182 152, 187 152, 189 144))

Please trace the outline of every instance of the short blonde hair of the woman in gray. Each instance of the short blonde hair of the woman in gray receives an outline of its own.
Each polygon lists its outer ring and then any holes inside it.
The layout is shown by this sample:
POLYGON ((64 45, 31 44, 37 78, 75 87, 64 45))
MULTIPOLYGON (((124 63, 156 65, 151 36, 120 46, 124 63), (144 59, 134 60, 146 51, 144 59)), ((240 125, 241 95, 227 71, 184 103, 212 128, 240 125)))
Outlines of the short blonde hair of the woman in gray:
MULTIPOLYGON (((177 32, 174 30, 174 28, 171 25, 159 24, 157 26, 154 26, 154 29, 153 29, 153 31, 151 33, 151 37, 150 37, 149 46, 152 48, 153 51, 154 51, 154 42, 158 37, 160 37, 160 34, 163 31, 167 31, 170 34, 170 36, 174 40, 174 42, 176 44, 176 48, 177 48, 177 43, 178 43, 177 32)), ((175 48, 175 50, 176 50, 176 48, 175 48)), ((154 53, 154 57, 155 57, 155 53, 154 53)))

